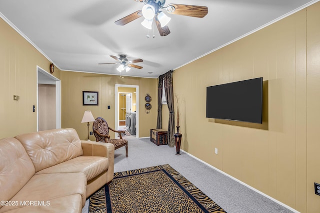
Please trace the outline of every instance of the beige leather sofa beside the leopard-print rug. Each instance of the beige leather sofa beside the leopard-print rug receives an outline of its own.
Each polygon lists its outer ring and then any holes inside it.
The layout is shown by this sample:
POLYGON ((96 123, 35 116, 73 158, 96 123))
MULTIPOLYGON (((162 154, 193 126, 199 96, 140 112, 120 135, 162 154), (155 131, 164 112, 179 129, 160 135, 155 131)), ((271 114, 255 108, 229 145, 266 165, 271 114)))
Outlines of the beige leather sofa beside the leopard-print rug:
POLYGON ((114 146, 74 129, 0 139, 0 213, 80 213, 113 179, 114 146))

